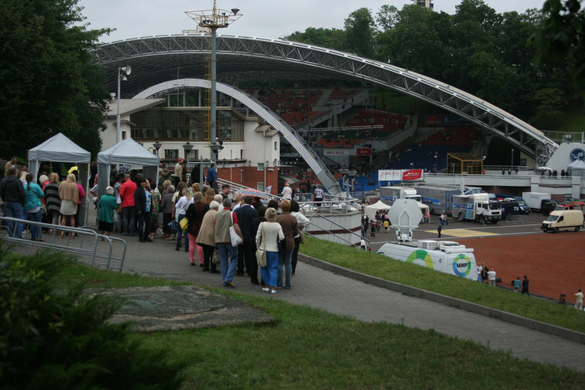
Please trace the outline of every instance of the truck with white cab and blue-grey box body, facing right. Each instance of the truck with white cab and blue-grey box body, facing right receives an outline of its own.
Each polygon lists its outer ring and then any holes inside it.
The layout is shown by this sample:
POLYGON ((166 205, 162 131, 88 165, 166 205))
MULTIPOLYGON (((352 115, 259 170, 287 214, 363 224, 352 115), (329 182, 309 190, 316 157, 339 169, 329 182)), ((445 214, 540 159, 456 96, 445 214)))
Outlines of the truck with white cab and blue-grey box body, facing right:
POLYGON ((480 222, 480 219, 484 218, 486 222, 495 224, 501 216, 500 202, 490 201, 489 195, 485 192, 453 196, 453 218, 475 222, 480 222))

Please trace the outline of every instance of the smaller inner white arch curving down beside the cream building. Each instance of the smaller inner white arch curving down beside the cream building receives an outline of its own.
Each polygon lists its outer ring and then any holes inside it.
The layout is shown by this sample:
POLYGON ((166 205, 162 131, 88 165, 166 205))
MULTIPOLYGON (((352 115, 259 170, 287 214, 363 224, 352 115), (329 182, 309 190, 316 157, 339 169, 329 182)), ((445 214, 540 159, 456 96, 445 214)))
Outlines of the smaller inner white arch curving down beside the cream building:
MULTIPOLYGON (((178 80, 170 80, 153 85, 152 87, 144 89, 144 91, 133 96, 133 99, 146 99, 154 94, 159 94, 164 91, 171 91, 172 89, 192 87, 192 88, 211 88, 211 81, 202 80, 199 78, 180 78, 178 80)), ((216 82, 215 87, 218 92, 230 96, 237 101, 243 103, 247 108, 250 108, 260 118, 262 118, 274 129, 283 134, 284 138, 300 153, 301 157, 307 161, 307 164, 315 175, 321 180, 321 183, 331 194, 340 194, 341 187, 335 180, 335 177, 329 172, 325 164, 315 154, 315 152, 308 146, 302 137, 292 129, 280 116, 276 115, 264 103, 253 98, 241 89, 224 84, 223 82, 216 82)))

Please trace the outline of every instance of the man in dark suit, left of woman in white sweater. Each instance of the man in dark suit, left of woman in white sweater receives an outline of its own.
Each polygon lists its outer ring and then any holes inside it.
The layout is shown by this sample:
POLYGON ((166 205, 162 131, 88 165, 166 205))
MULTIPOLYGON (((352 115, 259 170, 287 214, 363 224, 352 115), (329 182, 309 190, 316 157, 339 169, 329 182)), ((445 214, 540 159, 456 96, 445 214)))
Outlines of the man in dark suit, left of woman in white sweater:
POLYGON ((235 210, 238 216, 238 224, 242 232, 243 241, 238 245, 238 269, 236 275, 244 275, 244 265, 250 275, 252 284, 260 284, 258 281, 258 267, 252 267, 252 258, 256 256, 256 237, 252 236, 252 220, 258 218, 258 211, 252 207, 252 196, 244 196, 244 204, 235 210), (253 270, 252 268, 255 268, 253 270), (254 272, 255 271, 255 272, 254 272))

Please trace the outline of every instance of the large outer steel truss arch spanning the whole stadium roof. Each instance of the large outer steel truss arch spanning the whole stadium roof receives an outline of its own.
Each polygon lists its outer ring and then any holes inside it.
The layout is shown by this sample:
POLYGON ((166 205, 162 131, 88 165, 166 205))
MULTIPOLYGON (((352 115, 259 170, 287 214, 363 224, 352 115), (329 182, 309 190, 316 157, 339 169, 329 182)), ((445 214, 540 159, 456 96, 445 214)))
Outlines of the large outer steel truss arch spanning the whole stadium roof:
MULTIPOLYGON (((535 127, 508 112, 441 81, 394 65, 350 53, 279 39, 219 35, 218 75, 238 72, 290 71, 364 81, 414 96, 498 134, 538 165, 544 165, 558 147, 535 127)), ((116 41, 99 46, 97 62, 112 87, 119 65, 129 63, 135 74, 125 84, 136 94, 157 82, 202 77, 207 52, 204 34, 173 34, 116 41), (173 77, 174 75, 174 77, 173 77)))

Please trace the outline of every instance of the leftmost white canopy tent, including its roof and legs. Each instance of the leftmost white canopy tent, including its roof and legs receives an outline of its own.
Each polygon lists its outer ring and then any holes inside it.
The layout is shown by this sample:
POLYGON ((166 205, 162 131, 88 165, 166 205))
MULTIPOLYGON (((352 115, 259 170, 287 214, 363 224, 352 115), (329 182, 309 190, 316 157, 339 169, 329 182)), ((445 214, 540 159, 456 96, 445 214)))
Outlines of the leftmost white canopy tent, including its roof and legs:
MULTIPOLYGON (((33 182, 37 182, 39 174, 40 161, 55 161, 57 163, 77 163, 79 166, 78 180, 81 181, 84 191, 87 194, 90 185, 91 153, 79 147, 73 141, 67 138, 63 133, 59 133, 42 144, 29 149, 29 172, 33 175, 33 182)), ((59 177, 61 177, 61 172, 59 177)), ((81 200, 82 211, 79 216, 79 226, 85 226, 87 221, 88 202, 87 196, 81 200)))

